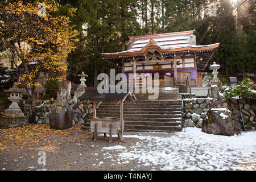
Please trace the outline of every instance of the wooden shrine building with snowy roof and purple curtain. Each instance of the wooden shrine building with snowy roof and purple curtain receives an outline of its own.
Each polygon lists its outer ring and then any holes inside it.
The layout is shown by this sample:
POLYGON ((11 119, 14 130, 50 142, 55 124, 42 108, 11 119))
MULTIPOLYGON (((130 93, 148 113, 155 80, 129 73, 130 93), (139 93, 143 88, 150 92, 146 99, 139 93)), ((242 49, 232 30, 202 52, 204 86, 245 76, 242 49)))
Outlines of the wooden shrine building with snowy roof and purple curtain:
POLYGON ((135 75, 139 80, 145 76, 154 80, 158 73, 160 86, 184 85, 187 79, 202 86, 204 70, 220 43, 197 46, 193 31, 132 36, 126 51, 101 56, 121 68, 127 82, 133 82, 135 75))

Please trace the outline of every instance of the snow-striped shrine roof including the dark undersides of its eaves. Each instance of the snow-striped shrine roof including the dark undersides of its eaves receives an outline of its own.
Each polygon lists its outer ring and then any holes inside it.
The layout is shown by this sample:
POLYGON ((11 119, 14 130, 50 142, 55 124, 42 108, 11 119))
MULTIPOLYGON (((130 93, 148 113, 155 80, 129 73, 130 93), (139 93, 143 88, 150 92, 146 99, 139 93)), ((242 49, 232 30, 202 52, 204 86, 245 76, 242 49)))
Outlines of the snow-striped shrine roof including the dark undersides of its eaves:
POLYGON ((161 55, 170 53, 191 53, 195 52, 200 59, 197 68, 205 69, 217 51, 220 43, 208 45, 196 45, 194 30, 183 32, 170 32, 165 34, 143 35, 130 37, 126 51, 101 53, 101 56, 110 63, 120 65, 123 58, 144 56, 148 49, 158 49, 161 55))

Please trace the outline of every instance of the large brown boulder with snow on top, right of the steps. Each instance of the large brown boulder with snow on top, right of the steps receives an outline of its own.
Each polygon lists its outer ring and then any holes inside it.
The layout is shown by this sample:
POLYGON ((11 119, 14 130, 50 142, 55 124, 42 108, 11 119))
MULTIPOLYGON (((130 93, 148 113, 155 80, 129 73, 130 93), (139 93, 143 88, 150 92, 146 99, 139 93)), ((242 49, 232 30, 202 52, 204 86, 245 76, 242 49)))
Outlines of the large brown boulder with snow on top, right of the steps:
POLYGON ((214 135, 234 135, 234 126, 228 110, 208 110, 202 122, 202 131, 214 135))

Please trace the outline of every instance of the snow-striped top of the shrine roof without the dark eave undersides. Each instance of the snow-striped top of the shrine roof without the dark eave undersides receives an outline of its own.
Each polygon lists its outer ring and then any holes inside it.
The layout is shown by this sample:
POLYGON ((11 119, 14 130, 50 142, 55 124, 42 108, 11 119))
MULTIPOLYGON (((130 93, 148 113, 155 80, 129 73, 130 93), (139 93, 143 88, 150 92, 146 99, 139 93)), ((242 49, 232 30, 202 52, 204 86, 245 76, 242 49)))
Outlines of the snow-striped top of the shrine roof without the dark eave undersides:
POLYGON ((143 54, 148 48, 158 48, 162 53, 184 51, 208 51, 218 47, 220 43, 209 45, 196 45, 196 36, 193 30, 183 32, 171 32, 166 34, 154 34, 130 37, 127 50, 113 53, 101 53, 102 57, 118 58, 143 54))

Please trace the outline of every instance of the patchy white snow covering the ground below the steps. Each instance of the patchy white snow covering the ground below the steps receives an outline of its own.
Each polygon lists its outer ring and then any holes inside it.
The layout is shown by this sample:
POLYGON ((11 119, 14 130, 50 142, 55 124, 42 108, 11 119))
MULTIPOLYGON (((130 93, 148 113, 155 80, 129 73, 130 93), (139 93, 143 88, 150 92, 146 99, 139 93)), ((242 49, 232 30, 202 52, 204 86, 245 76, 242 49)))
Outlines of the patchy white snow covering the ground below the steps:
MULTIPOLYGON (((255 170, 256 131, 242 132, 226 137, 203 133, 196 127, 187 127, 180 133, 155 137, 148 133, 124 135, 138 138, 129 149, 114 146, 116 156, 109 154, 110 147, 102 148, 106 159, 136 160, 139 166, 151 166, 152 170, 255 170)), ((110 152, 111 153, 111 152, 110 152)))

